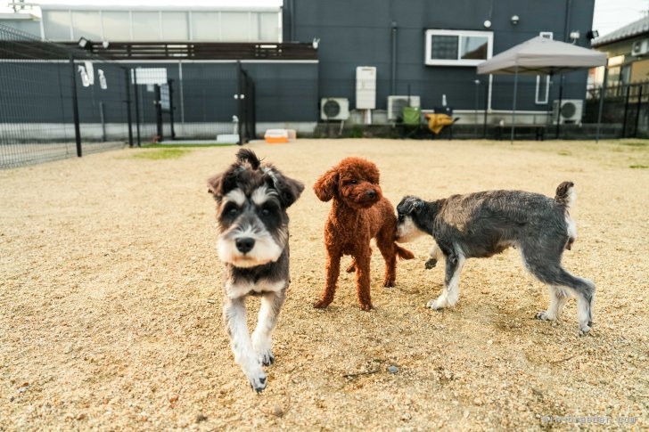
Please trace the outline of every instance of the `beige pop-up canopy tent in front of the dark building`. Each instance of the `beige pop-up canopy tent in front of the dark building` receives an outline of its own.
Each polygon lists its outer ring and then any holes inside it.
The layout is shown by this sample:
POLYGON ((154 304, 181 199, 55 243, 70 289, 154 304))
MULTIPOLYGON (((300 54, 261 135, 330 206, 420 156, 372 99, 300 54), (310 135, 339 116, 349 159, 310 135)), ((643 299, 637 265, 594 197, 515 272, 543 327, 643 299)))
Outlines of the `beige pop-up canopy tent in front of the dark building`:
MULTIPOLYGON (((516 115, 516 93, 518 76, 524 75, 554 75, 573 70, 595 68, 606 65, 606 53, 566 44, 545 37, 533 37, 520 45, 499 53, 488 61, 478 65, 478 73, 483 74, 513 74, 513 110, 512 110, 512 142, 514 117, 516 115)), ((605 86, 604 77, 604 86, 605 86)), ((604 100, 604 94, 600 97, 604 100)), ((600 109, 597 124, 601 121, 600 109)), ((599 127, 597 128, 599 134, 599 127)))

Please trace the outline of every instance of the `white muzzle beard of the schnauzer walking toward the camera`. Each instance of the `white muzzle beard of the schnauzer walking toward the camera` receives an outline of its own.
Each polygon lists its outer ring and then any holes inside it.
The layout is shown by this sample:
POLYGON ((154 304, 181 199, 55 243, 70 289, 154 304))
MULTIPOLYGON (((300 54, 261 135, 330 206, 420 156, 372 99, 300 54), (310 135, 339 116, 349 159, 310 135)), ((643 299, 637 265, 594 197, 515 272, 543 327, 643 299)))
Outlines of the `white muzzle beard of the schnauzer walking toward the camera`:
MULTIPOLYGON (((282 237, 282 232, 279 232, 282 237)), ((224 263, 234 265, 235 267, 256 267, 274 263, 282 255, 284 246, 282 240, 278 242, 266 229, 253 226, 234 226, 234 228, 218 236, 217 249, 218 257, 224 263), (242 253, 236 248, 235 241, 241 238, 250 238, 255 240, 253 248, 242 253)), ((284 242, 285 245, 285 242, 284 242)))

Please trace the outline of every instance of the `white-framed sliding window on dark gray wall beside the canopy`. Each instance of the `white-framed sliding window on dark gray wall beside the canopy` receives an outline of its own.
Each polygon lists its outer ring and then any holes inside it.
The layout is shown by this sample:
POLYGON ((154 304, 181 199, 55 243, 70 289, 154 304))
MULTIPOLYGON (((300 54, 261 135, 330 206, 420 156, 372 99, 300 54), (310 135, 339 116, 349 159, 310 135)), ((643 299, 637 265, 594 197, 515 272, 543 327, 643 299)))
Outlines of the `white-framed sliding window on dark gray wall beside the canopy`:
POLYGON ((426 30, 425 64, 475 66, 491 58, 493 33, 469 30, 426 30))

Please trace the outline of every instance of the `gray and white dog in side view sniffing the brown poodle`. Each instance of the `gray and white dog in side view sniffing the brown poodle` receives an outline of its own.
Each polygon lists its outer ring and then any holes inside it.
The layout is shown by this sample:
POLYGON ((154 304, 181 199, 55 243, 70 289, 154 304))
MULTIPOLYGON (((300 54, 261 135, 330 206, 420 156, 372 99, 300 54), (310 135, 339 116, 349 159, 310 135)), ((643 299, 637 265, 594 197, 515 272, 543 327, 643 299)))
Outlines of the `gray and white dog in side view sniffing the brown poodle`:
POLYGON ((435 265, 439 252, 446 258, 444 289, 428 307, 455 306, 459 280, 467 258, 491 257, 509 247, 519 249, 527 269, 550 287, 550 306, 540 320, 559 318, 566 300, 577 298, 579 330, 593 325, 595 284, 573 276, 561 265, 563 249, 571 249, 577 236, 569 210, 576 198, 574 184, 563 182, 555 199, 522 191, 489 191, 452 195, 424 201, 407 196, 397 206, 397 241, 431 235, 437 247, 426 263, 435 265), (439 249, 438 249, 439 248, 439 249))

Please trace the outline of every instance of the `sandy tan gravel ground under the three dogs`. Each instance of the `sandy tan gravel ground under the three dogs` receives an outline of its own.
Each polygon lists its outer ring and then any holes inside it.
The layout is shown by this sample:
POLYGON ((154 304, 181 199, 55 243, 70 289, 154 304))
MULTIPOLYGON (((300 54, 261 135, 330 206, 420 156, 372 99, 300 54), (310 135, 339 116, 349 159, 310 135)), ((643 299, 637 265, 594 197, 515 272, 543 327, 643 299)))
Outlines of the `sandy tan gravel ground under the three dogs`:
MULTIPOLYGON (((0 430, 520 430, 587 416, 649 428, 649 170, 630 167, 649 166, 649 147, 626 144, 252 144, 307 184, 290 209, 292 286, 260 395, 223 329, 205 187, 236 147, 163 160, 133 157, 163 150, 110 151, 0 171, 0 430), (547 289, 515 250, 470 260, 459 304, 426 309, 443 278, 440 265, 424 269, 428 239, 408 245, 417 258, 398 265, 395 289, 381 287, 374 253, 374 311, 357 308, 348 274, 333 305, 313 309, 329 204, 311 185, 348 155, 376 162, 395 204, 485 189, 554 195, 574 181, 579 238, 563 263, 596 281, 594 330, 578 336, 574 300, 561 322, 533 319, 547 289)), ((250 324, 258 306, 249 301, 250 324)))

